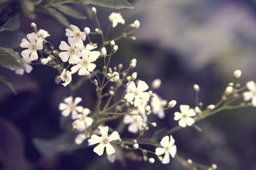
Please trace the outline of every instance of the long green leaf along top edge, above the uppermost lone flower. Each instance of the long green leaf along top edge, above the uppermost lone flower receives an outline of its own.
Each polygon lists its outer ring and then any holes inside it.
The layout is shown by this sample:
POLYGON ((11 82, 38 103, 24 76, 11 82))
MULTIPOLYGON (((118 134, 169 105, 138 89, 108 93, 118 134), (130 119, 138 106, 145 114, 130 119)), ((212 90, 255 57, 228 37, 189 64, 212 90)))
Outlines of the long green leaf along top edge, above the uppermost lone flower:
POLYGON ((134 7, 127 0, 79 0, 82 4, 95 4, 99 6, 104 6, 108 8, 129 8, 133 9, 134 7))

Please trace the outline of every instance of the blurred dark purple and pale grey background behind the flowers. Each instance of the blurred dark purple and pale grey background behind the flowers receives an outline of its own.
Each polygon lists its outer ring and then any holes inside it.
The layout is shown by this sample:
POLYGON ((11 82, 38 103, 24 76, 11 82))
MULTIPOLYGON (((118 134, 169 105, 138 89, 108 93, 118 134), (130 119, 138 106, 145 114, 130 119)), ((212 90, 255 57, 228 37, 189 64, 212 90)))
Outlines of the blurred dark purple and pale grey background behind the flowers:
MULTIPOLYGON (((138 19, 141 27, 135 32, 136 41, 118 41, 118 53, 112 66, 128 65, 132 58, 138 60, 135 71, 138 78, 150 84, 160 78, 162 86, 156 92, 164 99, 176 99, 178 104, 194 106, 193 84, 200 85, 200 101, 205 105, 220 100, 232 73, 241 69, 241 83, 256 80, 256 1, 244 0, 137 0, 130 1, 134 10, 120 11, 126 23, 138 19)), ((74 6, 77 10, 83 9, 74 6)), ((97 8, 100 22, 106 31, 108 15, 113 11, 97 8)), ((70 22, 95 29, 90 17, 70 22)), ((20 30, 32 32, 31 20, 20 16, 20 30)), ((56 48, 60 41, 67 41, 65 27, 54 18, 38 15, 34 21, 38 28, 51 34, 56 48)), ((117 36, 123 25, 112 31, 117 36)), ((99 41, 99 37, 93 37, 99 41)), ((21 49, 17 48, 17 52, 21 49)), ((17 96, 0 87, 0 169, 184 169, 172 160, 163 165, 158 160, 147 162, 109 163, 106 157, 98 157, 92 149, 72 150, 60 153, 54 146, 67 142, 65 130, 60 124, 58 104, 70 95, 68 88, 56 85, 54 69, 34 66, 31 74, 19 76, 8 69, 1 73, 10 78, 17 96), (44 140, 42 140, 44 139, 44 140)), ((96 96, 93 85, 84 83, 75 96, 83 98, 82 106, 93 109, 96 96)), ((176 106, 166 111, 166 118, 150 117, 159 127, 174 127, 173 113, 176 106)), ((198 122, 203 132, 193 128, 173 134, 178 153, 219 169, 256 169, 256 113, 255 109, 223 111, 198 122)))

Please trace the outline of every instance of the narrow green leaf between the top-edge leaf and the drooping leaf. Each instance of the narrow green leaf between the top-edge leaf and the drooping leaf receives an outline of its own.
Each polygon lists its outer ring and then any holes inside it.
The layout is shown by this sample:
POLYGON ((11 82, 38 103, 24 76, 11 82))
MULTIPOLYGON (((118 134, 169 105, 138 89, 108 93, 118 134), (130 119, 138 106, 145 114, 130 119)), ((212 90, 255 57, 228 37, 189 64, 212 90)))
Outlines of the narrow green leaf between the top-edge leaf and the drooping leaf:
POLYGON ((74 10, 70 6, 58 4, 54 7, 56 9, 58 9, 59 11, 61 11, 62 13, 64 13, 65 15, 68 15, 70 17, 77 18, 77 19, 85 19, 86 18, 82 13, 80 13, 77 10, 74 10))

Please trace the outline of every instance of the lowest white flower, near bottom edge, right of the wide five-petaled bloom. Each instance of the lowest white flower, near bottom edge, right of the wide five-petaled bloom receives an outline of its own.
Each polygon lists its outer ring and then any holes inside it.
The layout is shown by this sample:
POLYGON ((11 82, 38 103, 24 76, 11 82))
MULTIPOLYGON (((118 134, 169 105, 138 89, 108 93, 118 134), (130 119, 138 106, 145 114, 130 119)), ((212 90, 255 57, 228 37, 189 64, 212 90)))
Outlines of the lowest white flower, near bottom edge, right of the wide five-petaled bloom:
POLYGON ((170 155, 172 158, 175 157, 176 152, 177 152, 177 147, 174 145, 175 140, 172 138, 172 135, 170 136, 170 141, 169 141, 169 136, 164 136, 164 138, 161 140, 160 145, 163 146, 163 148, 156 148, 156 155, 163 155, 164 158, 162 160, 163 164, 168 164, 170 162, 170 155))

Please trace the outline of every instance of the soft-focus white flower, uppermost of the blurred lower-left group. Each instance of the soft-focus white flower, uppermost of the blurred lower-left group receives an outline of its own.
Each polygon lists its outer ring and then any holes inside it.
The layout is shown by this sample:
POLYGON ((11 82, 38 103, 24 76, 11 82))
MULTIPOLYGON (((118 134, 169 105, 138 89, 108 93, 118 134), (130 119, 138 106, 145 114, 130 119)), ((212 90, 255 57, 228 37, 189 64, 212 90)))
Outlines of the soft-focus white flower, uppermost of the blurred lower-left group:
POLYGON ((64 99, 65 103, 60 103, 59 110, 62 111, 63 117, 68 117, 72 113, 72 119, 77 118, 77 115, 83 111, 83 106, 77 106, 82 101, 81 97, 76 97, 73 101, 73 97, 67 97, 64 99))

